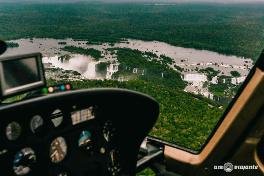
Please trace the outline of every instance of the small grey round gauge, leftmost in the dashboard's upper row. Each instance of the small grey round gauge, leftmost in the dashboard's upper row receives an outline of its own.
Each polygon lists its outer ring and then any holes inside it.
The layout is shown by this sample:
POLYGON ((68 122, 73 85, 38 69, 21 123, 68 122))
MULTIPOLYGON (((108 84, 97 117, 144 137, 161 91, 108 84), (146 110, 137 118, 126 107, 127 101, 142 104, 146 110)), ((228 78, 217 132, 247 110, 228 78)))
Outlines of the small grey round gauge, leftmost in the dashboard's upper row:
POLYGON ((6 136, 10 141, 15 141, 21 135, 21 125, 17 122, 11 122, 6 127, 6 136))

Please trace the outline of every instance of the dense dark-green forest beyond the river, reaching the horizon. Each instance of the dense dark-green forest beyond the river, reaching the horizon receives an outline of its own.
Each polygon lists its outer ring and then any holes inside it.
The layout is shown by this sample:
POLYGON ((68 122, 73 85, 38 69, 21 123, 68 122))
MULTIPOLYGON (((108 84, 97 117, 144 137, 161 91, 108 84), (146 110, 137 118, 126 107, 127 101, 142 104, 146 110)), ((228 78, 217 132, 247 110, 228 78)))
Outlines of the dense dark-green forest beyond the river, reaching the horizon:
POLYGON ((264 4, 0 3, 0 38, 158 40, 256 60, 264 45, 264 4))

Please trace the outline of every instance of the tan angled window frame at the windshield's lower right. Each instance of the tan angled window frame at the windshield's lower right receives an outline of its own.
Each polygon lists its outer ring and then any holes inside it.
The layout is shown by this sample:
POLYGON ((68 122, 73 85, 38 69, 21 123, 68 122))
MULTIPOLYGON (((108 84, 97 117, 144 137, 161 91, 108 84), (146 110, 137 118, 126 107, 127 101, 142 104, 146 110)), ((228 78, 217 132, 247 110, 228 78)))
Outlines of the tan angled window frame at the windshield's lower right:
MULTIPOLYGON (((234 145, 234 140, 238 138, 249 122, 252 121, 253 115, 250 114, 256 114, 264 103, 263 80, 264 72, 262 72, 259 68, 256 68, 253 77, 248 82, 241 95, 238 97, 237 101, 234 103, 233 107, 230 109, 229 113, 226 115, 223 122, 220 124, 219 128, 216 130, 215 134, 200 154, 191 154, 181 149, 165 146, 164 155, 166 160, 170 162, 174 160, 176 163, 180 162, 182 164, 188 164, 189 168, 190 165, 197 166, 204 164, 205 160, 208 160, 210 157, 214 157, 214 160, 215 158, 218 158, 215 154, 211 156, 213 151, 214 153, 228 151, 230 146, 234 145), (232 128, 230 128, 230 126, 232 126, 232 128), (221 141, 220 146, 218 146, 219 141, 221 141), (221 150, 219 148, 221 148, 221 150)), ((221 153, 218 155, 220 158, 221 153)), ((210 159, 208 161, 210 162, 210 159)), ((209 163, 208 161, 206 163, 209 163)), ((172 163, 168 162, 168 164, 171 165, 172 163)), ((192 171, 190 170, 189 172, 192 171)))

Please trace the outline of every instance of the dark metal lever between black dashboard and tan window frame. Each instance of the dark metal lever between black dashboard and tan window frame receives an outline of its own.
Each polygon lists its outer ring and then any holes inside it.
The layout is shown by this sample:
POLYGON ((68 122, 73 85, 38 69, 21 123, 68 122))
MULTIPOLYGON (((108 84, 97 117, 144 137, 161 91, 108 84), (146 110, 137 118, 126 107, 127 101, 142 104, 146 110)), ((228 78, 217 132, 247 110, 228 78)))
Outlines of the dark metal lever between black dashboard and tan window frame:
POLYGON ((136 172, 140 172, 143 169, 153 165, 158 161, 163 161, 164 159, 164 147, 155 146, 153 143, 146 143, 148 154, 138 160, 136 164, 136 172))

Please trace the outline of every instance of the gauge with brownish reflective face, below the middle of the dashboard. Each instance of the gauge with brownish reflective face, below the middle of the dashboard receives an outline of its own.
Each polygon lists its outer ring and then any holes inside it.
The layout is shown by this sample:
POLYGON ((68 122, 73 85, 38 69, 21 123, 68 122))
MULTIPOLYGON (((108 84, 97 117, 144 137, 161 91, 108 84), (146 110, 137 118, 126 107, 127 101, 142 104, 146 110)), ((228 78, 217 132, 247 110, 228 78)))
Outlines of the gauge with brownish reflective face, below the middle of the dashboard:
POLYGON ((50 159, 53 163, 61 162, 67 154, 67 144, 63 137, 57 137, 50 144, 50 159))

